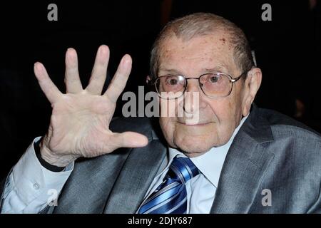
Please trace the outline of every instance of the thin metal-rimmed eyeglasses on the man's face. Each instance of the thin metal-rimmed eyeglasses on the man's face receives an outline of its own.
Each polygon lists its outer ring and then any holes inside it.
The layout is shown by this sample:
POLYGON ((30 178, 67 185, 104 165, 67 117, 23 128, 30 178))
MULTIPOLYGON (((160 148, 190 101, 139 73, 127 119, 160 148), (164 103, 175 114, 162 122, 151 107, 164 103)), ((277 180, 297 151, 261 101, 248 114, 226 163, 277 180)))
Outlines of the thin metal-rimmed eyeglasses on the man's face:
POLYGON ((158 96, 163 99, 177 99, 185 93, 188 80, 198 80, 200 89, 209 98, 224 98, 233 90, 233 83, 237 82, 248 71, 237 78, 226 73, 204 73, 198 78, 185 78, 185 76, 159 76, 152 83, 155 84, 158 96))

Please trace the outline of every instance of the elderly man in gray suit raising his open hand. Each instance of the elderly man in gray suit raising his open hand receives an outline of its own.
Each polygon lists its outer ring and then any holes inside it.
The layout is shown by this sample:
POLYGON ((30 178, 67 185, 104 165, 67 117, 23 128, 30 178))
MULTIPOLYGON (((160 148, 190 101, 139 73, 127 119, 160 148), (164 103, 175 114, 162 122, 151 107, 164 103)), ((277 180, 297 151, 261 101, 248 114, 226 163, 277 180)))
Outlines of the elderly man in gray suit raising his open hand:
POLYGON ((131 57, 101 95, 108 58, 101 46, 83 89, 68 49, 66 94, 35 64, 51 123, 4 180, 1 212, 321 212, 320 135, 253 105, 262 73, 235 24, 199 13, 163 28, 148 81, 160 108, 174 108, 159 130, 147 118, 112 120, 131 57))

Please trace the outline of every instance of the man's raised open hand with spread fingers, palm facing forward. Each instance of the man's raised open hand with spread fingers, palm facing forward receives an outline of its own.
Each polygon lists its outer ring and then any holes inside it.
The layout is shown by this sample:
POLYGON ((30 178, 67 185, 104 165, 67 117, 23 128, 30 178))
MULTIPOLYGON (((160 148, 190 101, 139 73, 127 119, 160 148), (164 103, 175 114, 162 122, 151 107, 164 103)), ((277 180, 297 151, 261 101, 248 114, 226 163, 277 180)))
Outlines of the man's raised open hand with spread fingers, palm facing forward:
POLYGON ((66 166, 78 157, 96 157, 119 147, 143 147, 146 136, 139 133, 113 133, 109 123, 116 101, 131 73, 131 56, 125 55, 107 90, 101 95, 109 60, 108 46, 100 46, 88 86, 83 89, 78 74, 77 53, 66 52, 66 93, 49 78, 46 68, 35 63, 34 73, 41 90, 51 103, 48 133, 41 142, 41 157, 51 165, 66 166))

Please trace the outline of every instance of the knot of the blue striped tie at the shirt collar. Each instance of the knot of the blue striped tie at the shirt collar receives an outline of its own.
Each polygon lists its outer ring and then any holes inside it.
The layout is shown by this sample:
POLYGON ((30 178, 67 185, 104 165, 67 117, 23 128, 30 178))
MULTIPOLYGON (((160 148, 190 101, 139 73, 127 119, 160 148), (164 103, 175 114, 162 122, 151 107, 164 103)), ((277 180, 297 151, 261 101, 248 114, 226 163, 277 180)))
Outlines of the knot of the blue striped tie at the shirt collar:
POLYGON ((200 172, 188 157, 175 157, 170 164, 168 175, 171 178, 179 178, 180 182, 185 183, 200 172))

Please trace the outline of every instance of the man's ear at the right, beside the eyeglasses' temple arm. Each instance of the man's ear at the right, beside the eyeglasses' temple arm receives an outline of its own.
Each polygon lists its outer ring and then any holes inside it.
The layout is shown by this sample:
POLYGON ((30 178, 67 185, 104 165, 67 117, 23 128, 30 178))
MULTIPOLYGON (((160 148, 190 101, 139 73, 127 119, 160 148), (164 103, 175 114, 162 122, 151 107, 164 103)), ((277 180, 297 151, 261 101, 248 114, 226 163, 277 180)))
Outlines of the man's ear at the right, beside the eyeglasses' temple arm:
POLYGON ((260 68, 252 68, 248 71, 248 76, 245 79, 245 94, 243 98, 243 116, 248 115, 251 105, 255 98, 262 81, 262 71, 260 68))

